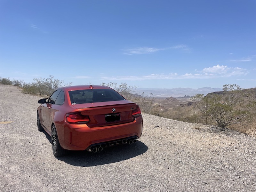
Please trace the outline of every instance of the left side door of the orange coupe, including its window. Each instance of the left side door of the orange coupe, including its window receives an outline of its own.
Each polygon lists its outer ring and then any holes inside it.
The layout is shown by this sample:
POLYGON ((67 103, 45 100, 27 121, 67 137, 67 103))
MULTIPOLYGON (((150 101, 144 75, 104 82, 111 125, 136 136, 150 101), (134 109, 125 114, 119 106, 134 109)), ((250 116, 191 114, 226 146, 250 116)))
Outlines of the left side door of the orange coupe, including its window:
POLYGON ((51 131, 51 108, 52 105, 55 104, 55 101, 59 95, 61 90, 57 90, 52 93, 51 97, 48 99, 48 102, 43 105, 42 108, 42 118, 43 118, 43 125, 49 131, 51 131))

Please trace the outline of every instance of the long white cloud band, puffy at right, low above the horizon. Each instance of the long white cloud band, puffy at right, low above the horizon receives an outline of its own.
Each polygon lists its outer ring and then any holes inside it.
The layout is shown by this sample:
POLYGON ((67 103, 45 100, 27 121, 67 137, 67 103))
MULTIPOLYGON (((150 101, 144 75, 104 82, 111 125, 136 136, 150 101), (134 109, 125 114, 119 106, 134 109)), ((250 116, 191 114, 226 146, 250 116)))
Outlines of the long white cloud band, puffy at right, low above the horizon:
POLYGON ((197 73, 178 73, 170 74, 150 74, 145 76, 101 76, 102 80, 155 80, 155 79, 210 79, 230 76, 243 76, 248 74, 248 70, 244 68, 231 68, 223 65, 216 65, 209 68, 204 68, 197 73))

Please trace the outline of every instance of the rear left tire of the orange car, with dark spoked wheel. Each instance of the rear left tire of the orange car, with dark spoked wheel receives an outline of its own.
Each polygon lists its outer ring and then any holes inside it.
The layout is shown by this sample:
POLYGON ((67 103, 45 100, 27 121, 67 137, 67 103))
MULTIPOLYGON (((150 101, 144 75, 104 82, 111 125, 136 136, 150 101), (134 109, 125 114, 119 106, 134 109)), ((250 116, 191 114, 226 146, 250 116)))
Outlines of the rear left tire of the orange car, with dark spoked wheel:
POLYGON ((60 146, 55 125, 52 125, 52 152, 55 157, 60 157, 66 154, 66 150, 60 146))

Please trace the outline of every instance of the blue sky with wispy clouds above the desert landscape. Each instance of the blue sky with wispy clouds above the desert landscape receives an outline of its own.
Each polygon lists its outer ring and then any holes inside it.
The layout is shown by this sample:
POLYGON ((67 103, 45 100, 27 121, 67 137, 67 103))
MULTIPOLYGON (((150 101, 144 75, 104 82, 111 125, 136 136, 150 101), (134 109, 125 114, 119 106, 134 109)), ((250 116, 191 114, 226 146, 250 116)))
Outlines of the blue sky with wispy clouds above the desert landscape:
POLYGON ((0 76, 256 87, 255 0, 0 0, 0 76))

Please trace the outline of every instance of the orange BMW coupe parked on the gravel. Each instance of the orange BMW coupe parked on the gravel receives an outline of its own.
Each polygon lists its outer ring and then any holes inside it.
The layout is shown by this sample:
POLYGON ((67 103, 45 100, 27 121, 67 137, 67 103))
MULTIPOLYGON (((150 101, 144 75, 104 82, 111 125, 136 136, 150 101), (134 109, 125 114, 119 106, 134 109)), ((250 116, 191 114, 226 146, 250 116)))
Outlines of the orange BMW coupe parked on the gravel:
POLYGON ((67 150, 95 153, 132 144, 142 134, 140 107, 107 86, 62 87, 38 103, 37 128, 51 136, 56 157, 67 150))

